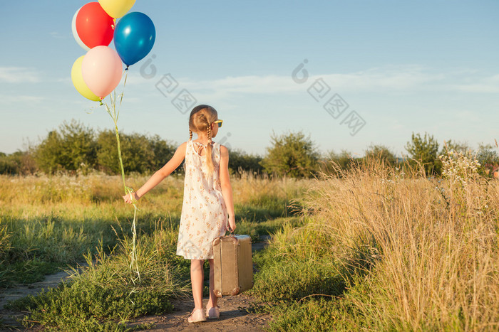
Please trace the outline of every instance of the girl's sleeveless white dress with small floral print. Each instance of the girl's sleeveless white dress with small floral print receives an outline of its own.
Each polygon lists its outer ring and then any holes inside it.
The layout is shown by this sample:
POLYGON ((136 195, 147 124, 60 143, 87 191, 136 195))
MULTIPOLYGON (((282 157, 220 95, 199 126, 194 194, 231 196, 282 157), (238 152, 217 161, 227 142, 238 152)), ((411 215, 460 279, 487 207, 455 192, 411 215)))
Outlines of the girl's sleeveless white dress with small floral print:
POLYGON ((186 259, 212 259, 212 242, 225 234, 227 208, 220 186, 220 144, 212 143, 215 171, 207 176, 206 146, 189 140, 185 149, 185 181, 177 255, 186 259))

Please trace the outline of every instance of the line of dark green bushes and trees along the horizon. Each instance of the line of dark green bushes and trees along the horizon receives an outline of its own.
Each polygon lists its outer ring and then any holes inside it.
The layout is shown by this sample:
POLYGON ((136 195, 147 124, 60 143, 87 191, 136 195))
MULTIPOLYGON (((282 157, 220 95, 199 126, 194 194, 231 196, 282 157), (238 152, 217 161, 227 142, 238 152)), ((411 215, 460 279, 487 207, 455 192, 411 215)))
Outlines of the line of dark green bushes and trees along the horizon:
MULTIPOLYGON (((123 166, 127 173, 153 173, 161 168, 175 153, 176 144, 161 139, 158 135, 120 134, 123 166)), ((321 154, 309 136, 302 132, 272 134, 270 145, 264 156, 231 150, 229 168, 232 173, 244 172, 293 178, 316 176, 319 172, 339 173, 365 164, 369 159, 378 159, 390 166, 403 163, 405 166, 423 167, 427 176, 441 174, 439 156, 448 151, 471 151, 465 143, 448 141, 440 146, 428 133, 413 133, 406 143, 407 155, 396 157, 383 145, 371 144, 364 156, 354 157, 349 151, 329 151, 321 154)), ((487 175, 499 164, 499 155, 494 146, 480 145, 473 151, 487 175)), ((63 122, 58 129, 48 132, 36 146, 14 154, 0 152, 0 174, 26 175, 43 172, 89 173, 101 171, 107 174, 120 173, 115 132, 96 132, 81 122, 63 122)), ((176 172, 182 172, 179 167, 176 172)))

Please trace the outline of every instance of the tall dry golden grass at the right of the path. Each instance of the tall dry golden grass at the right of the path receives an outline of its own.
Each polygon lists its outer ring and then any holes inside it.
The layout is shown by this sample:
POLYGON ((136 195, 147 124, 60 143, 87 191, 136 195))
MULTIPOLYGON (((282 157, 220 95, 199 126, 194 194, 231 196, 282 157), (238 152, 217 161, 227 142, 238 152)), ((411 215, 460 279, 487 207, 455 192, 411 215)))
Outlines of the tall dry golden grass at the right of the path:
POLYGON ((468 157, 451 156, 443 179, 371 161, 309 189, 307 232, 320 236, 307 248, 363 267, 346 299, 367 326, 499 329, 499 187, 468 157))

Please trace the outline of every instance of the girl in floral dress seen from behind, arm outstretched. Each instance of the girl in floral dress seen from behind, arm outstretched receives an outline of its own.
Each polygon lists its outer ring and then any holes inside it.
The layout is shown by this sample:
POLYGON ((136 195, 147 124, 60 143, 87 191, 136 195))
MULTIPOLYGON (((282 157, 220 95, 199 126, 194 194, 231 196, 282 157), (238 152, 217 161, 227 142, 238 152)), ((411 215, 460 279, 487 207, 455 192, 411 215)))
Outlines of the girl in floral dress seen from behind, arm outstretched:
POLYGON ((217 136, 222 120, 217 111, 208 105, 192 109, 189 117, 189 141, 182 143, 172 159, 138 190, 123 196, 126 203, 139 200, 165 177, 180 166, 185 159, 184 198, 177 255, 190 259, 190 280, 195 308, 187 318, 190 323, 219 318, 217 297, 213 292, 213 247, 215 238, 225 234, 227 215, 230 230, 236 228, 232 187, 229 178, 229 151, 212 141, 217 136), (192 141, 192 132, 197 139, 192 141), (206 314, 202 308, 203 264, 210 262, 210 299, 206 314))

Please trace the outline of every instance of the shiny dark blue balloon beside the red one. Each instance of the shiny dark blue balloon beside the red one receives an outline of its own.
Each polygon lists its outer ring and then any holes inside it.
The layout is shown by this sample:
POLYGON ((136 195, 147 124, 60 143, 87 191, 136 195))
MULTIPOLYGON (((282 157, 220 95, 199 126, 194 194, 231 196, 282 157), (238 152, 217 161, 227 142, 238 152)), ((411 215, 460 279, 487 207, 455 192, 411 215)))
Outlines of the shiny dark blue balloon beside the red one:
POLYGON ((148 55, 155 38, 153 21, 138 11, 123 16, 114 29, 114 47, 127 67, 148 55))

